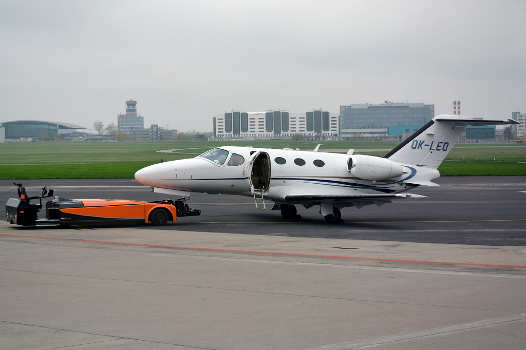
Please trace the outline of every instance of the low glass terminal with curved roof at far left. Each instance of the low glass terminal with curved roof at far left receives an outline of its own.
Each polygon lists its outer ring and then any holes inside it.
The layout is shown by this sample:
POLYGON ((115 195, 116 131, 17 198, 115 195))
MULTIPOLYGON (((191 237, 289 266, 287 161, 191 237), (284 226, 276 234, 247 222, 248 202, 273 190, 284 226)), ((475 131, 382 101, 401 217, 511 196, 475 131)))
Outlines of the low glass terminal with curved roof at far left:
POLYGON ((13 141, 39 141, 46 137, 54 138, 55 135, 64 137, 64 134, 77 132, 85 127, 43 120, 15 120, 0 123, 0 142, 13 141))

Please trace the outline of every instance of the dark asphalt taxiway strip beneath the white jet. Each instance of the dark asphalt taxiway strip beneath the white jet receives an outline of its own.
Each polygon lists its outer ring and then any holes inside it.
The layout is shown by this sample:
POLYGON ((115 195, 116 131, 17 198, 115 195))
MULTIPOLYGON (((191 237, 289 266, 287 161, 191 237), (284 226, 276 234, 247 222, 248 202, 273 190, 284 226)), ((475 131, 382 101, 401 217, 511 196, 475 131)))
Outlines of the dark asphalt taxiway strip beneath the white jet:
MULTIPOLYGON (((0 206, 16 197, 14 181, 0 180, 0 206)), ((169 198, 152 193, 135 180, 20 180, 28 194, 55 189, 60 197, 133 199, 169 198)), ((328 225, 319 207, 297 205, 301 220, 285 220, 279 211, 257 210, 251 198, 192 194, 188 204, 199 217, 181 218, 159 230, 281 235, 291 237, 365 239, 422 243, 483 245, 526 244, 526 177, 444 177, 440 187, 410 191, 423 199, 402 199, 378 208, 342 209, 342 224, 328 225)), ((146 228, 146 227, 144 227, 146 228)))

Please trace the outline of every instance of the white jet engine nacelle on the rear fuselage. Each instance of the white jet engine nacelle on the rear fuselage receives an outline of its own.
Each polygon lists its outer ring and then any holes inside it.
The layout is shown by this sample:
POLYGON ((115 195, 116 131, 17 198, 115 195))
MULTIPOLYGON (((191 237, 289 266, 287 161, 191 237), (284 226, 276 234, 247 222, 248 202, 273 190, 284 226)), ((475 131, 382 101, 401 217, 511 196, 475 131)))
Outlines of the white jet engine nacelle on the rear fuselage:
POLYGON ((403 168, 386 158, 355 155, 347 162, 347 171, 363 180, 386 180, 401 176, 403 168))

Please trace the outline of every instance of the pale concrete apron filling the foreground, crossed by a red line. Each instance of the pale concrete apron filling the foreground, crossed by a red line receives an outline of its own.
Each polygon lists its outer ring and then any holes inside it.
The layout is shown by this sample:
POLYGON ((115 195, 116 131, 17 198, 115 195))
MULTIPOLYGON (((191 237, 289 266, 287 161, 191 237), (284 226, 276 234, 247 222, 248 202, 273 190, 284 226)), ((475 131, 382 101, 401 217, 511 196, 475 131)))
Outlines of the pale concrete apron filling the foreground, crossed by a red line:
POLYGON ((3 348, 520 348, 526 250, 0 223, 3 348))

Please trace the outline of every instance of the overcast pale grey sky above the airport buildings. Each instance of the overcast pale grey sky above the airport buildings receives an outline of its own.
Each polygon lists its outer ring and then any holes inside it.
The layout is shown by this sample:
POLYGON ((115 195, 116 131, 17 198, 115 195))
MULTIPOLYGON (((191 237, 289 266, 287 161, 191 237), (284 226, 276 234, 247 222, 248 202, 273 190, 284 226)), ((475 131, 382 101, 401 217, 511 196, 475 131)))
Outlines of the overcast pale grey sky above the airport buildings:
POLYGON ((212 117, 349 103, 526 111, 522 1, 3 1, 0 121, 210 131, 212 117))

